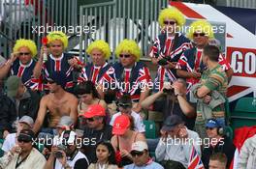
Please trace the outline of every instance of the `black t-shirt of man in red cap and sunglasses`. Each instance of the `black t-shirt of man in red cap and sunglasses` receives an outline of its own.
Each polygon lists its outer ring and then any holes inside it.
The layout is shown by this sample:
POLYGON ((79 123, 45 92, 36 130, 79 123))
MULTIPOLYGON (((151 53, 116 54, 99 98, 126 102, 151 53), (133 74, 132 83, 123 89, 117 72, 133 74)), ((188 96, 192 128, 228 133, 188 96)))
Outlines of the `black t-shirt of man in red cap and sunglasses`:
POLYGON ((102 140, 112 139, 112 126, 105 125, 101 130, 95 130, 89 127, 84 128, 82 150, 88 157, 89 163, 97 160, 96 144, 102 140))

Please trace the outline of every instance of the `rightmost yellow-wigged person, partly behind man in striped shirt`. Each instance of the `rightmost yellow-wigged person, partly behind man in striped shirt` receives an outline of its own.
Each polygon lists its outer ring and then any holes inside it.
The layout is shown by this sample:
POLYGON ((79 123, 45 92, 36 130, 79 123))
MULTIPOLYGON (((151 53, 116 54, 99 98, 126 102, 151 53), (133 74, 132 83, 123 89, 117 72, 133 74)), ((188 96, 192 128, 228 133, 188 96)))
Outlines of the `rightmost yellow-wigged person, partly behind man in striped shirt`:
MULTIPOLYGON (((188 89, 201 78, 201 73, 205 70, 202 62, 203 48, 208 45, 209 40, 214 39, 212 25, 205 19, 192 22, 189 26, 187 37, 194 42, 194 47, 186 50, 177 63, 177 74, 180 77, 187 78, 188 89)), ((233 74, 233 70, 226 59, 220 55, 219 64, 226 70, 229 79, 233 74)))

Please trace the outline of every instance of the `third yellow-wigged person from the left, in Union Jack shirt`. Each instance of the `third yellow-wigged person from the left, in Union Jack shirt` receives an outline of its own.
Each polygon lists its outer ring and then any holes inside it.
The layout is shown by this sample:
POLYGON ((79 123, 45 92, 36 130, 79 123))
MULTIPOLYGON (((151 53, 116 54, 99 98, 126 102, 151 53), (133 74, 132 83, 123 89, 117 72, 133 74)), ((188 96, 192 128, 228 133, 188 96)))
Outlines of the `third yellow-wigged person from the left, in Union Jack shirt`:
POLYGON ((98 83, 106 71, 111 68, 111 65, 106 62, 111 57, 111 48, 107 42, 97 40, 89 44, 86 52, 92 62, 88 63, 85 68, 81 70, 79 82, 90 80, 95 84, 98 83))

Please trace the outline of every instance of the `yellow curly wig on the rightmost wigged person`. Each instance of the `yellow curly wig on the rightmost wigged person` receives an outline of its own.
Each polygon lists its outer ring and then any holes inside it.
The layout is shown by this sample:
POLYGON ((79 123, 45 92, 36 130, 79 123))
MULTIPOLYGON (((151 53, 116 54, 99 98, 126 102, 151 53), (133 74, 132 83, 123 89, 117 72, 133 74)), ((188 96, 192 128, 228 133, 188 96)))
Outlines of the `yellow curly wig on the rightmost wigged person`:
POLYGON ((192 22, 189 26, 187 38, 192 40, 195 32, 205 33, 208 36, 208 39, 214 39, 212 26, 207 20, 197 20, 192 22))

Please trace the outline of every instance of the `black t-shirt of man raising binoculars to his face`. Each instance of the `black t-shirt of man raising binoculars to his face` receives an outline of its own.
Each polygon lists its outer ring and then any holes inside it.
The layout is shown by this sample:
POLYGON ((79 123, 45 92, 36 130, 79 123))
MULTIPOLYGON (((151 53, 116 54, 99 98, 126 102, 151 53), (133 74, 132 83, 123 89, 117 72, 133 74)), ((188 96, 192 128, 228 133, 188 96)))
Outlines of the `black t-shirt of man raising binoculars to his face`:
MULTIPOLYGON (((165 96, 165 97, 161 97, 160 99, 156 99, 153 103, 153 110, 162 112, 164 114, 164 119, 166 119, 168 116, 176 114, 177 116, 182 118, 182 120, 185 122, 185 126, 188 127, 188 129, 193 130, 195 126, 196 117, 195 118, 186 117, 182 112, 177 100, 173 101, 173 99, 170 99, 170 98, 171 96, 165 96)), ((187 100, 189 99, 187 98, 187 100)), ((196 104, 191 102, 189 103, 196 110, 196 104)))

